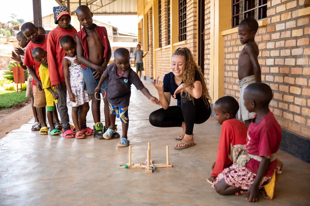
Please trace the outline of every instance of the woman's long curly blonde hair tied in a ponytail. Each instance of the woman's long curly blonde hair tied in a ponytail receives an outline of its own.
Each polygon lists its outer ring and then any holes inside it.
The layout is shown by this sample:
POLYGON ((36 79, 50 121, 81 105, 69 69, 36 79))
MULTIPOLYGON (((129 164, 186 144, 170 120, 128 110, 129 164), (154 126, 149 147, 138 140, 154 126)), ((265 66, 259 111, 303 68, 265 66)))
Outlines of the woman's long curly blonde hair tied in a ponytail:
POLYGON ((194 98, 191 95, 190 91, 194 88, 195 71, 197 71, 199 74, 199 77, 201 80, 201 86, 202 86, 201 98, 203 99, 203 102, 205 103, 205 105, 209 108, 210 105, 208 103, 208 99, 210 103, 212 103, 212 99, 207 89, 206 79, 201 72, 200 66, 198 66, 196 62, 194 61, 192 52, 186 47, 177 48, 175 52, 172 54, 172 57, 175 55, 183 56, 185 58, 184 71, 181 76, 184 82, 183 89, 186 94, 185 96, 188 97, 189 100, 194 101, 194 98))

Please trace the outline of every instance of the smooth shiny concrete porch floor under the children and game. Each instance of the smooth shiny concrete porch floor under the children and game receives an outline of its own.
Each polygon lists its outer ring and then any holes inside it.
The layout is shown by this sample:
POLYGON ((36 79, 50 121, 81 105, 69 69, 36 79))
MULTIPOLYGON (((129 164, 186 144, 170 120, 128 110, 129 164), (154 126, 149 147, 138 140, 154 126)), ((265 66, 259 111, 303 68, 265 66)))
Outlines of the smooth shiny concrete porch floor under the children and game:
MULTIPOLYGON (((157 96, 150 82, 144 85, 157 96)), ((169 145, 172 168, 158 168, 152 174, 143 168, 118 168, 128 163, 128 147, 118 148, 119 139, 40 135, 30 131, 31 120, 0 139, 0 205, 252 205, 244 195, 218 195, 206 182, 221 126, 213 118, 195 125, 196 145, 175 150, 181 129, 155 128, 148 122, 157 108, 132 86, 128 132, 132 162, 145 161, 150 141, 155 163, 166 162, 169 145)), ((87 122, 92 127, 91 111, 87 122)), ((122 134, 121 126, 118 129, 122 134)), ((310 165, 282 151, 278 158, 284 166, 276 196, 266 200, 260 195, 255 205, 310 205, 310 165)))

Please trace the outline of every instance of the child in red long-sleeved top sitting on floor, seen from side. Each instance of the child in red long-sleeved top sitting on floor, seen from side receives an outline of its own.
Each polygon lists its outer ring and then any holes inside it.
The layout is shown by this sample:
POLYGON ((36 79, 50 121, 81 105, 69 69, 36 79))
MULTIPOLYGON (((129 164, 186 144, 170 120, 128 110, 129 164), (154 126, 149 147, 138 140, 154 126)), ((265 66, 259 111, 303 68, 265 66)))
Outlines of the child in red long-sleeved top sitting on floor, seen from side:
POLYGON ((212 183, 215 178, 227 167, 232 165, 232 148, 234 145, 246 144, 246 125, 236 119, 239 109, 237 100, 231 96, 219 98, 213 105, 214 118, 222 125, 219 148, 217 150, 216 162, 212 164, 212 173, 207 179, 212 183))

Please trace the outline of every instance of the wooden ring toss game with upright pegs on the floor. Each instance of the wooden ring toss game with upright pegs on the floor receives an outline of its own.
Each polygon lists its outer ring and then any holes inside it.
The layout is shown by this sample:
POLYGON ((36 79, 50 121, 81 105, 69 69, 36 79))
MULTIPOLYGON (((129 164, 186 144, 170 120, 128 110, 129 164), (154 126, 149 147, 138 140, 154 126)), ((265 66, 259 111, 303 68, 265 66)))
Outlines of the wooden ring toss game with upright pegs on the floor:
POLYGON ((118 167, 121 168, 145 168, 145 173, 152 173, 153 170, 155 171, 157 168, 161 167, 172 167, 171 164, 169 164, 169 146, 166 146, 166 163, 153 163, 152 159, 150 158, 151 155, 151 143, 148 142, 148 150, 147 150, 147 159, 146 162, 142 162, 141 164, 134 164, 131 162, 131 145, 129 145, 129 162, 125 164, 121 164, 118 167))

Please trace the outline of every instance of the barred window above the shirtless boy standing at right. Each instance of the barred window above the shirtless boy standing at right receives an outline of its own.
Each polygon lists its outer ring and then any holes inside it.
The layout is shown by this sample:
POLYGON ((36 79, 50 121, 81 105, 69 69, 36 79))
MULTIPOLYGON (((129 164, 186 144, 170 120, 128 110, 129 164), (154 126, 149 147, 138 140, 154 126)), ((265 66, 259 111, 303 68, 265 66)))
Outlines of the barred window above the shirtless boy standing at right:
POLYGON ((232 0, 232 28, 248 17, 267 18, 267 0, 232 0))

